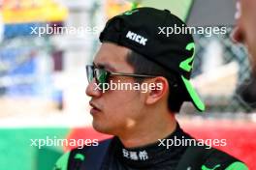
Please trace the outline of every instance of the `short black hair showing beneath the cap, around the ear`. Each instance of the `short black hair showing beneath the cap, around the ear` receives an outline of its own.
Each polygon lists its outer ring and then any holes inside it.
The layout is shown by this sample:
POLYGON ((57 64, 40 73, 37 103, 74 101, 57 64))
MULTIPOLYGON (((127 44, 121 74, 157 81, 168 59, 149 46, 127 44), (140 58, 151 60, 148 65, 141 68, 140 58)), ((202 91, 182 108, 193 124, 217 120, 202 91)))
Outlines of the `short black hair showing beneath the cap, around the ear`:
MULTIPOLYGON (((157 75, 167 78, 171 93, 168 97, 168 108, 172 112, 179 112, 184 99, 184 88, 181 85, 180 78, 174 71, 168 71, 153 61, 146 59, 143 55, 130 50, 127 55, 127 63, 134 68, 134 73, 157 75)), ((139 83, 144 81, 144 78, 135 78, 139 83)))

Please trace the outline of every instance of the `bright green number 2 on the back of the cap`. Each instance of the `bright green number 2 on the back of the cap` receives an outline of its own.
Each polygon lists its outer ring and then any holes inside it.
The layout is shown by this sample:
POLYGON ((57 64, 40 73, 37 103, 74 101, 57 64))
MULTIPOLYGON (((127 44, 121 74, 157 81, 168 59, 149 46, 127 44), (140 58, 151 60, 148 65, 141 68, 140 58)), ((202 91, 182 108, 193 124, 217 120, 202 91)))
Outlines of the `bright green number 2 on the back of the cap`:
POLYGON ((184 60, 183 62, 181 62, 179 64, 179 68, 181 68, 184 71, 192 71, 193 68, 193 60, 195 57, 195 43, 194 42, 190 42, 186 45, 186 50, 193 50, 193 55, 189 58, 187 58, 186 60, 184 60))

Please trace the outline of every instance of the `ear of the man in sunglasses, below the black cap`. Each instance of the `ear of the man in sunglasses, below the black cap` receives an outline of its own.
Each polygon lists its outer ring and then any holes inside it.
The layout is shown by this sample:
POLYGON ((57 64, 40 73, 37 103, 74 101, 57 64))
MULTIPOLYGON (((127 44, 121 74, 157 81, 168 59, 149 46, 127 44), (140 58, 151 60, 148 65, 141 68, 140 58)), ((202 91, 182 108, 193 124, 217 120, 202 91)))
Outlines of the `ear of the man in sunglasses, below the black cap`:
POLYGON ((167 96, 169 85, 165 77, 158 76, 147 82, 146 104, 153 104, 167 96))

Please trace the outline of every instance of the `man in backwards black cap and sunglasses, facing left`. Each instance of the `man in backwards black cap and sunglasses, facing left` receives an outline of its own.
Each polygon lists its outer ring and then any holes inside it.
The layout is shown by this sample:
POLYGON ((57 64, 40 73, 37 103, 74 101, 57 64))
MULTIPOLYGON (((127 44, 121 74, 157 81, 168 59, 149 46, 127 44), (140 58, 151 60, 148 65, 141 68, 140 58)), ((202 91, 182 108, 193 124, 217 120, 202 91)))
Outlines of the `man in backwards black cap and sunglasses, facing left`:
POLYGON ((247 169, 237 158, 195 142, 178 126, 175 114, 183 101, 199 111, 205 104, 189 82, 192 35, 168 34, 175 26, 184 23, 167 10, 153 8, 134 9, 108 21, 93 66, 86 67, 86 95, 91 97, 93 128, 114 137, 71 151, 55 169, 247 169), (133 89, 112 90, 106 83, 132 84, 133 89), (141 89, 135 90, 137 83, 141 89), (182 144, 174 145, 176 141, 182 144))

